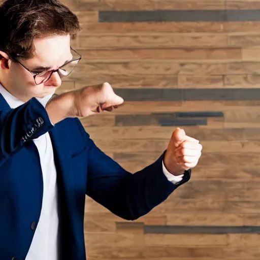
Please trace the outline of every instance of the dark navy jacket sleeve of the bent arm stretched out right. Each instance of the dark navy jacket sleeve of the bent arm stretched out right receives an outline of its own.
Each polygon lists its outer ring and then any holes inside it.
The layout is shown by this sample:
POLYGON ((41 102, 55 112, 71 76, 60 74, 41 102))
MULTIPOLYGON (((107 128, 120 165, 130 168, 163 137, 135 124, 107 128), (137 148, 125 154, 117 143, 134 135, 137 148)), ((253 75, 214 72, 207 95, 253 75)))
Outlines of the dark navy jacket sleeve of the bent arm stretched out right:
POLYGON ((121 218, 134 220, 147 214, 190 179, 191 172, 186 171, 181 182, 170 182, 163 173, 164 154, 143 170, 129 173, 101 151, 87 133, 85 141, 88 147, 86 194, 121 218))

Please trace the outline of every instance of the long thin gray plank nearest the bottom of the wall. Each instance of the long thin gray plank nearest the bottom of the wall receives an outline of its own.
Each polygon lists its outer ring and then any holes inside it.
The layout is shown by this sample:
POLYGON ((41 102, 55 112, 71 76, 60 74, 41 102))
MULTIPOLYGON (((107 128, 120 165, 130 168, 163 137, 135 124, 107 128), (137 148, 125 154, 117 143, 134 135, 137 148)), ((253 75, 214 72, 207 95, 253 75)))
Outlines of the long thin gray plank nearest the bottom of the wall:
POLYGON ((145 225, 145 234, 259 234, 260 226, 145 225))

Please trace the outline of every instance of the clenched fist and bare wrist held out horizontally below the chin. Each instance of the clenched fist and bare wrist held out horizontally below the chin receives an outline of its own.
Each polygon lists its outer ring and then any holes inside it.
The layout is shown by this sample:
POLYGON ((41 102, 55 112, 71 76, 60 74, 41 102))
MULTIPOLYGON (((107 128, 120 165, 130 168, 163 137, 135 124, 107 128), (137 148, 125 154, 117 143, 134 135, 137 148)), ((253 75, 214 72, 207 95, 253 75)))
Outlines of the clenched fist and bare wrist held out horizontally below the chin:
POLYGON ((103 83, 54 95, 47 103, 46 111, 55 124, 67 117, 87 117, 105 110, 112 111, 123 102, 109 83, 103 83))

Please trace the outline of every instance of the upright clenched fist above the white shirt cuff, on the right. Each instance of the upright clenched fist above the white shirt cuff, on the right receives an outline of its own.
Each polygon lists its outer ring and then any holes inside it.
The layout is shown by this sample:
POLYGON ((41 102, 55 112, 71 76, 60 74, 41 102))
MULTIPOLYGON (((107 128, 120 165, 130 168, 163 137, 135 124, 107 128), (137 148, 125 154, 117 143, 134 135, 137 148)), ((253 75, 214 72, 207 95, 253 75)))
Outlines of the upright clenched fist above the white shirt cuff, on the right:
POLYGON ((186 136, 183 129, 177 128, 164 156, 165 167, 171 174, 181 175, 198 164, 201 151, 202 145, 198 140, 186 136))

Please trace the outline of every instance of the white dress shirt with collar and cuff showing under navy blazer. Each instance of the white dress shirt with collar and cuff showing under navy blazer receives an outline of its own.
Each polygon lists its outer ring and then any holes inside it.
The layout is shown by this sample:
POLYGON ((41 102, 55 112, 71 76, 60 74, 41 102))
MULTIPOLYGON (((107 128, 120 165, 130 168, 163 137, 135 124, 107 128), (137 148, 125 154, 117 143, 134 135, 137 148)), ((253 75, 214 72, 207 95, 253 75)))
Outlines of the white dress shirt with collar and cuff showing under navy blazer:
MULTIPOLYGON (((0 84, 0 93, 8 105, 14 109, 24 102, 16 99, 0 84)), ((45 107, 52 95, 37 100, 45 107)), ((49 133, 34 139, 42 168, 43 201, 40 219, 35 230, 29 251, 25 260, 58 260, 58 203, 57 203, 57 173, 54 164, 53 148, 49 133)), ((174 176, 167 171, 163 162, 163 172, 169 181, 178 183, 183 175, 174 176)))

